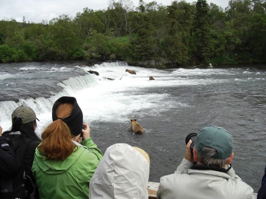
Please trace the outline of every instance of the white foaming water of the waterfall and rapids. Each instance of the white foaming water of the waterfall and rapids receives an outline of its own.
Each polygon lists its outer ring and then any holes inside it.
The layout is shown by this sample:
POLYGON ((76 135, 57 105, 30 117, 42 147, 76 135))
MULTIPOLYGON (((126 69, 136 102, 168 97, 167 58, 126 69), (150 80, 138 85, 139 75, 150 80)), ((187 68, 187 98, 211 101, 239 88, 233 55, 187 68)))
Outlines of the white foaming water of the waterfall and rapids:
MULTIPOLYGON (((17 103, 15 101, 0 102, 0 111, 5 113, 0 119, 0 124, 4 131, 8 130, 12 125, 10 118, 12 111, 17 106, 24 105, 31 107, 40 120, 37 123, 38 128, 36 129, 38 134, 51 122, 52 105, 60 96, 75 96, 77 98, 77 102, 83 111, 85 122, 92 122, 94 120, 128 122, 128 118, 134 112, 151 115, 170 110, 172 106, 188 106, 182 103, 173 104, 171 96, 168 93, 147 93, 143 89, 164 88, 176 85, 193 86, 212 84, 214 83, 213 80, 198 79, 198 77, 193 79, 193 76, 213 75, 219 72, 217 69, 147 69, 128 66, 126 64, 121 66, 119 62, 96 64, 93 67, 52 67, 49 70, 46 67, 28 65, 20 67, 17 70, 37 70, 40 75, 41 73, 53 73, 54 78, 56 78, 56 73, 60 72, 69 72, 71 74, 73 70, 84 71, 83 75, 70 77, 58 83, 62 87, 61 91, 54 93, 49 98, 25 97, 20 98, 17 103), (127 68, 135 70, 137 74, 129 74, 125 71, 127 68), (90 74, 87 72, 88 70, 97 71, 100 75, 90 74), (153 76, 156 80, 149 81, 149 76, 153 76), (114 80, 108 80, 106 78, 112 78, 114 80)), ((224 72, 224 70, 220 71, 220 73, 224 72)), ((19 78, 19 75, 19 72, 13 74, 2 72, 1 80, 19 78)), ((43 79, 41 81, 46 80, 43 79)), ((223 81, 225 80, 217 79, 215 83, 223 81)), ((12 82, 7 86, 10 85, 14 86, 12 82)), ((50 92, 53 93, 52 90, 50 92)))

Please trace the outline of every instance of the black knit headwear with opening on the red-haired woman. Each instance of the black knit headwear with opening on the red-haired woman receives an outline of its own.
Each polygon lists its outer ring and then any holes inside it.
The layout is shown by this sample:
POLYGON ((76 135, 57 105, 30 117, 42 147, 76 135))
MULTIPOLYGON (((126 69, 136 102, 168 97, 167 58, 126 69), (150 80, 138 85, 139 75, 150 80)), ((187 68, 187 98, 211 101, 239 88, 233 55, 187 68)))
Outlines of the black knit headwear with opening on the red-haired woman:
MULTIPOLYGON (((56 115, 56 109, 59 105, 70 103, 73 104, 73 110, 70 114, 70 116, 63 118, 63 122, 68 125, 71 134, 74 136, 77 136, 81 133, 82 127, 83 127, 83 114, 81 109, 78 106, 77 100, 75 97, 69 97, 69 96, 63 96, 57 99, 57 101, 54 103, 53 109, 52 109, 52 118, 53 121, 58 119, 56 115)), ((61 118, 60 118, 61 119, 61 118)))

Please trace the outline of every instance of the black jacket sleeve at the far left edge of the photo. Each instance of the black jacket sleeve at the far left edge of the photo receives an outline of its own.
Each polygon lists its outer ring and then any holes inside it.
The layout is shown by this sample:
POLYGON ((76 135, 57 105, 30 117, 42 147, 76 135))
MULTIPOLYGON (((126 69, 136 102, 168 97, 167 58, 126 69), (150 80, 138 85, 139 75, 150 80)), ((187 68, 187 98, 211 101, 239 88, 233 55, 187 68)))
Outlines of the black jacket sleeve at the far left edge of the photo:
POLYGON ((17 161, 5 137, 0 137, 0 178, 12 178, 18 171, 17 161))

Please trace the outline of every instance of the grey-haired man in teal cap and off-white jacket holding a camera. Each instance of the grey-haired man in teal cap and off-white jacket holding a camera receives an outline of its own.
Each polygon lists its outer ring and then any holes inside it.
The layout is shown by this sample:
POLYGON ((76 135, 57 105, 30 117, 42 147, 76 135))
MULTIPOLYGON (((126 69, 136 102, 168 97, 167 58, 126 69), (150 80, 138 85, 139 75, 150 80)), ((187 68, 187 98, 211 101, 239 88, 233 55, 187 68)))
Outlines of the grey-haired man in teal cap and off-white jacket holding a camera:
POLYGON ((207 126, 186 145, 186 155, 176 171, 160 179, 157 198, 253 198, 253 189, 231 166, 233 136, 224 128, 207 126), (195 163, 195 164, 193 164, 195 163))

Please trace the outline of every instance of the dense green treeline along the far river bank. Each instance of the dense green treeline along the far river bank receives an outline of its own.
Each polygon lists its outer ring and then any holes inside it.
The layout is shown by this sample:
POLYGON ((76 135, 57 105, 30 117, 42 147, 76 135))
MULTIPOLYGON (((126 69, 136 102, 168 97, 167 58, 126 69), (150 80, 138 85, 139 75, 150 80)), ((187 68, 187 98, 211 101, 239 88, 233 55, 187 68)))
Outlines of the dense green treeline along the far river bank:
POLYGON ((0 21, 0 62, 101 59, 138 65, 262 63, 266 61, 266 1, 230 0, 224 10, 205 0, 110 0, 41 23, 0 21))

